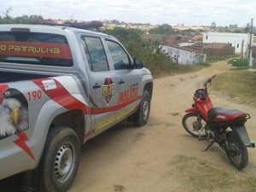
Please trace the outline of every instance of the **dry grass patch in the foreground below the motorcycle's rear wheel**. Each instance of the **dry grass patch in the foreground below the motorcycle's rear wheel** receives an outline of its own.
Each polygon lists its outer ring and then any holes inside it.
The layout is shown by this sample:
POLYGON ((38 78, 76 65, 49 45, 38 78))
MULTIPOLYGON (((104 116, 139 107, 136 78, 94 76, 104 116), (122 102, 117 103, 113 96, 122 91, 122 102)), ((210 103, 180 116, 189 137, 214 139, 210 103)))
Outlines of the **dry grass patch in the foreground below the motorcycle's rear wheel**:
POLYGON ((184 191, 254 192, 256 178, 241 172, 227 172, 205 160, 178 155, 169 164, 169 174, 178 177, 184 191))

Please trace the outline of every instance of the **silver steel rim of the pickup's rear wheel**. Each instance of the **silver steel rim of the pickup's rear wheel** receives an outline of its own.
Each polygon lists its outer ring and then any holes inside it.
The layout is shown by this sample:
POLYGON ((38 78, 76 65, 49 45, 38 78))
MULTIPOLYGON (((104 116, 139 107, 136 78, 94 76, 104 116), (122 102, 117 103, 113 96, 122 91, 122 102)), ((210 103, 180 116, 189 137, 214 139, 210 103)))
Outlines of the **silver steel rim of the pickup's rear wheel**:
POLYGON ((55 179, 65 183, 72 175, 75 165, 74 147, 72 143, 63 143, 55 157, 55 179))

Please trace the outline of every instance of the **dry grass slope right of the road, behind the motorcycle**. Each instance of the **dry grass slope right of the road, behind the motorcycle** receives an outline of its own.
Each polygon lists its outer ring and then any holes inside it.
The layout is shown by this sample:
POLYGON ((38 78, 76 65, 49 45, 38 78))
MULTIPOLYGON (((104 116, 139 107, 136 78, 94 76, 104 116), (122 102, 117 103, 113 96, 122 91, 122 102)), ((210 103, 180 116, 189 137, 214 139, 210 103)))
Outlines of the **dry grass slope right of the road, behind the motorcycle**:
POLYGON ((239 97, 241 102, 256 104, 256 76, 248 70, 219 74, 212 82, 212 88, 227 96, 239 97))

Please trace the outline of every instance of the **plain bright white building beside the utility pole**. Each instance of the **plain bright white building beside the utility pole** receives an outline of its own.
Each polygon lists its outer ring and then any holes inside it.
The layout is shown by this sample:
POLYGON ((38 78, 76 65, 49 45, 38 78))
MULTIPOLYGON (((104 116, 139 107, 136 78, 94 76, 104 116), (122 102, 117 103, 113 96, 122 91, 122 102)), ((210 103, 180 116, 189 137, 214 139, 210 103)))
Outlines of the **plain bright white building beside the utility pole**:
MULTIPOLYGON (((248 44, 250 42, 249 33, 231 33, 231 32, 204 32, 203 43, 224 43, 235 47, 235 54, 246 55, 248 44)), ((252 37, 253 44, 253 37, 252 37)))

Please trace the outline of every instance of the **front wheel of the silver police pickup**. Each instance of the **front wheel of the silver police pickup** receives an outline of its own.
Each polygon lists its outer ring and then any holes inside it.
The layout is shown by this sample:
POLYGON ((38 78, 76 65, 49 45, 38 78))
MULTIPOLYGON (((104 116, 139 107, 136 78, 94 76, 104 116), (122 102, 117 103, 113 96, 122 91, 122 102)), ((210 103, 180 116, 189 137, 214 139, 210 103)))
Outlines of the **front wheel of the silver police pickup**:
POLYGON ((134 124, 137 126, 146 125, 148 122, 148 117, 150 113, 150 102, 151 96, 148 90, 143 91, 142 101, 140 102, 139 108, 137 108, 136 113, 134 113, 134 124))

